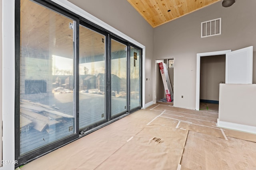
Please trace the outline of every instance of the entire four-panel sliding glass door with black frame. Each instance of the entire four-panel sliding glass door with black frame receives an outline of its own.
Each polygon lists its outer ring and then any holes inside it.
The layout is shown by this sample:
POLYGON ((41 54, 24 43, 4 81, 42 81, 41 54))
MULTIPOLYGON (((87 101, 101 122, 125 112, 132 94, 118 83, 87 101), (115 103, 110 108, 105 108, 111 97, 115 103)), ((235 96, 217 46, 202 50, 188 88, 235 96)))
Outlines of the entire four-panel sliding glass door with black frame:
POLYGON ((141 55, 52 1, 16 0, 17 167, 141 108, 141 55))

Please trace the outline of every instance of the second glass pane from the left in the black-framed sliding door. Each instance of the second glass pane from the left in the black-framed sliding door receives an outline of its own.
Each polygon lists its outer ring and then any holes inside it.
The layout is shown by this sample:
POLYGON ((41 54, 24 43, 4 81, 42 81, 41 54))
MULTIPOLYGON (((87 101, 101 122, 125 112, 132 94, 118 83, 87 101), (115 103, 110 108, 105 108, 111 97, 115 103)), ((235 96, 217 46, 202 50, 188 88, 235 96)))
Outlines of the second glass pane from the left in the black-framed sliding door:
POLYGON ((106 119, 105 36, 79 27, 79 128, 106 119))

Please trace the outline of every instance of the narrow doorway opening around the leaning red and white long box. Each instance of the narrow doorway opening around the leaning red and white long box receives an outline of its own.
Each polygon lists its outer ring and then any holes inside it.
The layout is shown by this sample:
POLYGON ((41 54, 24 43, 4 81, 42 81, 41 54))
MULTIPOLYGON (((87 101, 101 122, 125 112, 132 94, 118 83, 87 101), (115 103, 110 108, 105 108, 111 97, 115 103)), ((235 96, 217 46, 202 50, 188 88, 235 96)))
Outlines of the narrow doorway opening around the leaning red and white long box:
MULTIPOLYGON (((170 86, 172 88, 172 93, 174 93, 174 58, 169 59, 160 59, 156 60, 156 90, 155 90, 155 103, 157 102, 167 102, 166 94, 164 90, 164 84, 162 80, 162 76, 160 73, 159 63, 165 63, 168 70, 168 76, 170 78, 170 86)), ((173 98, 172 102, 169 102, 173 105, 173 98)))

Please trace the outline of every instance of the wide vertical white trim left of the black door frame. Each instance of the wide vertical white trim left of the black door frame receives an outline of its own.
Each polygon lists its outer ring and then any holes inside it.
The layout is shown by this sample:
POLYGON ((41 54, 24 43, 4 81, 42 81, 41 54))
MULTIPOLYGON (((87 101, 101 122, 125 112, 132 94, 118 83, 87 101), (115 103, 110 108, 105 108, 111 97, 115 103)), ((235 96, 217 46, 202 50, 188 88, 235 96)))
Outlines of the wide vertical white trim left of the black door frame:
MULTIPOLYGON (((15 159, 15 0, 2 1, 2 116, 3 160, 15 159)), ((14 164, 4 164, 0 170, 13 170, 14 164)))

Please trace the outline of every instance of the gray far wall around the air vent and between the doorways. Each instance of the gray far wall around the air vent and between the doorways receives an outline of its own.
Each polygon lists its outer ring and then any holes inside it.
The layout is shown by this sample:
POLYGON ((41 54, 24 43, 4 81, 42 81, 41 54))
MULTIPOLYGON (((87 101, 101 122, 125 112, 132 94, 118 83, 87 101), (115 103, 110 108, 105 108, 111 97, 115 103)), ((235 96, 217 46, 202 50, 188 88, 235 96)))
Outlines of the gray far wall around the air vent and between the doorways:
MULTIPOLYGON (((174 106, 196 108, 196 53, 256 48, 256 1, 239 0, 229 7, 222 2, 154 28, 155 59, 174 58, 174 106), (222 35, 201 38, 202 21, 222 18, 222 35), (181 96, 184 98, 181 98, 181 96)), ((254 52, 253 83, 256 83, 254 52)), ((152 76, 154 77, 154 76, 152 76)), ((155 87, 153 87, 154 89, 155 87)))

